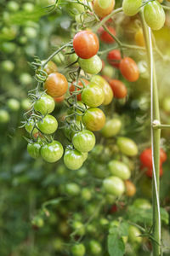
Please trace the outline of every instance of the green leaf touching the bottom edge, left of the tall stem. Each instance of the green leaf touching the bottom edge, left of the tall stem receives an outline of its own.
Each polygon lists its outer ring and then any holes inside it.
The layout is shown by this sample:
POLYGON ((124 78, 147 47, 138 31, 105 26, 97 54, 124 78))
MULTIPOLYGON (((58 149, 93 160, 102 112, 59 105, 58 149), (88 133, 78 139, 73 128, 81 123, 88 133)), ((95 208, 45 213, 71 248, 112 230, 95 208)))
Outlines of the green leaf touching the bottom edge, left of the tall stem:
POLYGON ((118 233, 108 236, 107 246, 110 256, 123 256, 125 253, 124 242, 122 241, 122 237, 118 236, 118 233))

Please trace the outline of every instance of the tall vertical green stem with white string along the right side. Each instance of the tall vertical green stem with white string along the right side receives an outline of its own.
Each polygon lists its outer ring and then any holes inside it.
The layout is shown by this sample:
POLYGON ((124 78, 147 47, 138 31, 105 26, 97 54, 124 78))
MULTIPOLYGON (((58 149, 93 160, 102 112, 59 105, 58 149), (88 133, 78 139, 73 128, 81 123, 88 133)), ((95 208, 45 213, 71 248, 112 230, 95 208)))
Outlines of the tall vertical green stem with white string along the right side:
POLYGON ((144 21, 144 15, 141 14, 142 25, 144 30, 144 38, 148 55, 148 67, 150 69, 150 136, 152 149, 152 206, 153 206, 153 232, 152 246, 153 255, 161 255, 161 213, 159 201, 160 186, 160 138, 161 130, 154 128, 154 123, 160 124, 159 98, 156 80, 156 68, 154 63, 152 49, 152 34, 149 26, 144 21))

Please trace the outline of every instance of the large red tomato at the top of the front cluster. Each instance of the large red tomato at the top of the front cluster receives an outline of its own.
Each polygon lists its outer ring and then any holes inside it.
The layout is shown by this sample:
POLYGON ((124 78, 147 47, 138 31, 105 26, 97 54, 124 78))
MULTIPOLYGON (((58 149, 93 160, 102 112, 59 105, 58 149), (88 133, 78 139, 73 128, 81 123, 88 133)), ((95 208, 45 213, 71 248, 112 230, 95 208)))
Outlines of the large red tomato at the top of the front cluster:
POLYGON ((73 38, 73 48, 82 59, 89 59, 97 54, 99 50, 99 39, 91 31, 77 32, 73 38))

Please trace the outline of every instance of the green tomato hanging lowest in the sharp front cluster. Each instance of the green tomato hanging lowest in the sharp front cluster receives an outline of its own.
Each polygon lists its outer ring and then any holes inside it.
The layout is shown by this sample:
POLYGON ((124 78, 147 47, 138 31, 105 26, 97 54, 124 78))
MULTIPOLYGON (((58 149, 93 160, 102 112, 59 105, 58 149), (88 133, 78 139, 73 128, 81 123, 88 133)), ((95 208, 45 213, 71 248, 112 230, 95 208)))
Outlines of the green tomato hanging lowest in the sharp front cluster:
POLYGON ((71 170, 79 169, 84 162, 81 152, 76 149, 66 149, 64 155, 65 166, 71 170))

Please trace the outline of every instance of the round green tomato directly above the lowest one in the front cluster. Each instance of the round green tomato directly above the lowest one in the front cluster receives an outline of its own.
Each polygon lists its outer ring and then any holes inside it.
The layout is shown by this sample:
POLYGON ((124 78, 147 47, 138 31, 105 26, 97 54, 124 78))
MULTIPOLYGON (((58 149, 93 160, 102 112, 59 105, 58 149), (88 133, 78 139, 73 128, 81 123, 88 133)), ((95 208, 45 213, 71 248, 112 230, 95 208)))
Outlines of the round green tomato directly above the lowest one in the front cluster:
POLYGON ((94 133, 88 130, 79 131, 72 138, 72 143, 78 151, 86 153, 94 148, 94 133))

